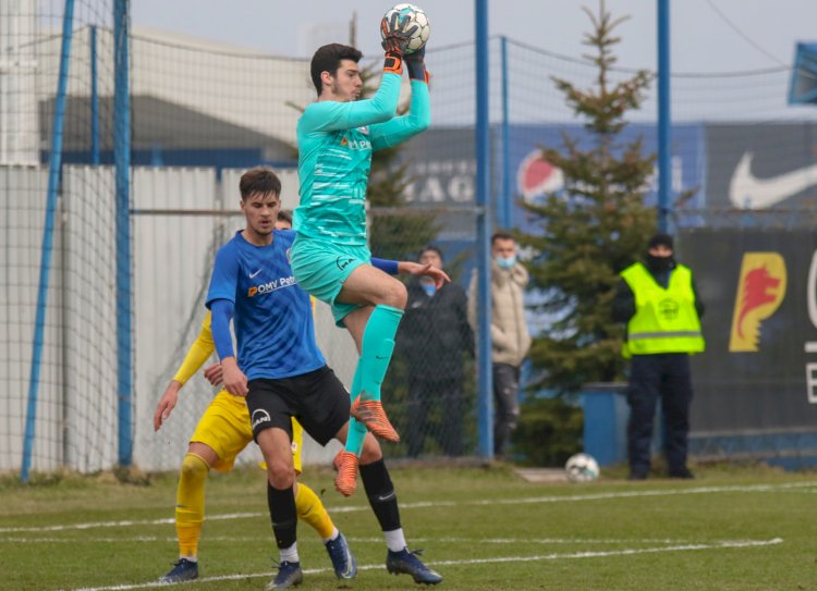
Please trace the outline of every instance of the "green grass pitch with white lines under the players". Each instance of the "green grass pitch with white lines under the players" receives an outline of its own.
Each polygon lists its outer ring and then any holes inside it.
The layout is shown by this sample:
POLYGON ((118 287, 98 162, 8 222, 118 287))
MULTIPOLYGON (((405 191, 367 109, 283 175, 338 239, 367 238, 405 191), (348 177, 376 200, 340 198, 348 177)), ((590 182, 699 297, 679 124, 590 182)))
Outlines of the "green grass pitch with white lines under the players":
MULTIPOLYGON (((403 527, 450 590, 817 590, 817 478, 768 468, 698 467, 694 481, 531 483, 508 466, 395 468, 403 527)), ((417 587, 386 572, 362 487, 304 475, 350 539, 361 570, 338 581, 316 534, 298 528, 302 589, 417 587)), ((277 557, 264 473, 214 476, 200 579, 184 590, 264 589, 277 557)), ((123 484, 111 475, 23 487, 0 481, 0 589, 125 590, 175 559, 175 475, 123 484)))

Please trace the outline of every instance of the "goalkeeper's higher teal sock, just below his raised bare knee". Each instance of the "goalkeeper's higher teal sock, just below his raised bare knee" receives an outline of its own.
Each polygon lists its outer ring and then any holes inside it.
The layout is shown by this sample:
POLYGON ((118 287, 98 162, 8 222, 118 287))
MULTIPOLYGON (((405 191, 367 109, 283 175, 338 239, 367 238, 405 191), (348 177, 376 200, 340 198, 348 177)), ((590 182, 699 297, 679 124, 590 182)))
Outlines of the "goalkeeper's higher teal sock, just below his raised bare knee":
MULTIPOLYGON (((375 306, 363 331, 361 359, 357 369, 361 371, 361 401, 379 401, 380 385, 394 352, 394 336, 398 334, 403 310, 391 306, 375 306)), ((352 399, 358 392, 352 391, 352 399)))

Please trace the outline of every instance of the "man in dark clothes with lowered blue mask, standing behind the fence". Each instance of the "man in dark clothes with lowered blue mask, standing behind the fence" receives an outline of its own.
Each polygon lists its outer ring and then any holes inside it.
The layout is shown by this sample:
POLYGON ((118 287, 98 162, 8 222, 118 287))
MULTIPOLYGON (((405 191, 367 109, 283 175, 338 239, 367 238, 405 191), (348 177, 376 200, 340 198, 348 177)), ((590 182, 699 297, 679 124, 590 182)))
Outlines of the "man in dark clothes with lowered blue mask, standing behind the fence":
MULTIPOLYGON (((442 269, 442 253, 424 248, 420 264, 442 269)), ((474 333, 467 319, 467 298, 456 283, 435 288, 416 279, 408 284, 408 303, 398 333, 398 346, 408 364, 408 455, 423 453, 428 415, 440 405, 442 423, 435 436, 448 456, 463 453, 463 355, 474 354, 474 333)))

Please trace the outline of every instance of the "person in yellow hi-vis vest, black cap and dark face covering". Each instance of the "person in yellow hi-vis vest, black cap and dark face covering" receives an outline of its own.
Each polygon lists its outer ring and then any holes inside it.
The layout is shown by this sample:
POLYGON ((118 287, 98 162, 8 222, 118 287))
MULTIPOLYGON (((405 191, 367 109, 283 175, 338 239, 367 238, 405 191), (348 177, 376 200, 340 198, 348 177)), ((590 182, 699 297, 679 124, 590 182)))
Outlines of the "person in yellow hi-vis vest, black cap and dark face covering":
POLYGON ((694 478, 686 466, 692 377, 690 355, 705 348, 704 304, 688 267, 673 258, 672 236, 656 234, 644 262, 621 272, 613 319, 626 322, 624 357, 631 359, 627 404, 630 480, 650 469, 650 442, 660 397, 670 478, 694 478))

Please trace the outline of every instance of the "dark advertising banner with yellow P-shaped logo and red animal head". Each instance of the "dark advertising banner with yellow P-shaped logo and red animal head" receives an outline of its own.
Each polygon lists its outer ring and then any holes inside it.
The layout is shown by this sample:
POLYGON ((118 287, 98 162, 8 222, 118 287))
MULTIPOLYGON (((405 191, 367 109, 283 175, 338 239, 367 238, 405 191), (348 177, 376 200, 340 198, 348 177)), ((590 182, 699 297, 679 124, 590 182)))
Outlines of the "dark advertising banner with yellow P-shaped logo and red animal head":
POLYGON ((706 305, 693 433, 817 430, 817 233, 707 229, 680 243, 706 305))

